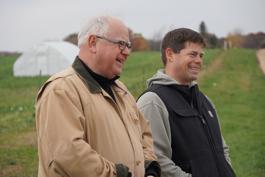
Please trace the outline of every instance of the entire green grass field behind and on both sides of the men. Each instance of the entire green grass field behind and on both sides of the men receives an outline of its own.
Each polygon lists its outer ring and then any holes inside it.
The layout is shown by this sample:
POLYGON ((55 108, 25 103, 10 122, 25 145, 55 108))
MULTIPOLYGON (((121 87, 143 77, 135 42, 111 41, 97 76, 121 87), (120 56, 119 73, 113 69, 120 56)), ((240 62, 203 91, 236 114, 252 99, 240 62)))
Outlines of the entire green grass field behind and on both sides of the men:
MULTIPOLYGON (((48 77, 14 78, 17 57, 0 57, 0 177, 36 177, 35 98, 48 77)), ((217 107, 237 177, 265 177, 265 76, 255 50, 207 49, 197 81, 217 107)), ((119 79, 135 98, 162 68, 159 52, 133 52, 119 79)))

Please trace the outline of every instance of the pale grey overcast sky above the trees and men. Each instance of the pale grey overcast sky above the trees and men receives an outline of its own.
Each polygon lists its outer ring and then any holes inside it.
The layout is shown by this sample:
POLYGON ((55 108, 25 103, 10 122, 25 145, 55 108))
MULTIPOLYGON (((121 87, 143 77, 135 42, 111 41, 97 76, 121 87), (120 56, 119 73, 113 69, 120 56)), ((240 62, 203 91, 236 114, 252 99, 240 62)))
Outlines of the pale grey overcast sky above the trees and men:
POLYGON ((0 0, 0 51, 63 40, 99 13, 122 14, 125 25, 146 39, 182 27, 198 32, 202 21, 218 38, 265 33, 265 0, 0 0))

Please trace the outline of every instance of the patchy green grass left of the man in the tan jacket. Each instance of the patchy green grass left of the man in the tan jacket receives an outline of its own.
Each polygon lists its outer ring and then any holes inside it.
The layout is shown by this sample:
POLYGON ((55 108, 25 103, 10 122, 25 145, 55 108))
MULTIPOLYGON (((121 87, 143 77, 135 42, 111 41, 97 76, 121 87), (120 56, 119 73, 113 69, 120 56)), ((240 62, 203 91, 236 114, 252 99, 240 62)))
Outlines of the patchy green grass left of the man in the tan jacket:
MULTIPOLYGON (((14 78, 17 57, 0 57, 0 176, 36 177, 35 98, 38 77, 14 78)), ((42 78, 41 84, 48 77, 42 78)))

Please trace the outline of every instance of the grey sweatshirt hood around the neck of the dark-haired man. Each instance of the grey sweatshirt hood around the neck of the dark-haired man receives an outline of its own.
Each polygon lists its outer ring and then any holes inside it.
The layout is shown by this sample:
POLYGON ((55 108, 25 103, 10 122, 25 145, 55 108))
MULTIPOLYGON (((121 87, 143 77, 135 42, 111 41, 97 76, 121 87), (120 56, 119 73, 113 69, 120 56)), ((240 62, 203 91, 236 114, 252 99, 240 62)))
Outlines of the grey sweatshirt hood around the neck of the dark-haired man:
MULTIPOLYGON (((157 71, 157 73, 155 75, 153 75, 152 78, 147 80, 147 87, 149 88, 151 85, 154 84, 159 84, 159 85, 181 85, 178 81, 176 81, 175 79, 173 79, 172 77, 168 76, 165 74, 165 70, 164 69, 159 69, 157 71)), ((189 84, 189 88, 191 86, 194 86, 195 84, 197 84, 196 82, 192 81, 189 84)))

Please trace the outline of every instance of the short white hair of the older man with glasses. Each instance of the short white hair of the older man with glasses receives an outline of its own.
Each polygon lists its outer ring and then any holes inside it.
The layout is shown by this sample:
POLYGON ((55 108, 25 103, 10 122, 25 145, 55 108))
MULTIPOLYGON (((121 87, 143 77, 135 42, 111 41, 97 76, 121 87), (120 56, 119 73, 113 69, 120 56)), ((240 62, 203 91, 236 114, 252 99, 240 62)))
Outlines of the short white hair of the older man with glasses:
POLYGON ((106 36, 109 32, 108 19, 117 18, 115 15, 101 14, 86 20, 78 33, 78 47, 87 44, 89 35, 106 36))

